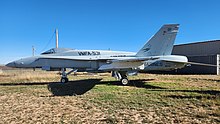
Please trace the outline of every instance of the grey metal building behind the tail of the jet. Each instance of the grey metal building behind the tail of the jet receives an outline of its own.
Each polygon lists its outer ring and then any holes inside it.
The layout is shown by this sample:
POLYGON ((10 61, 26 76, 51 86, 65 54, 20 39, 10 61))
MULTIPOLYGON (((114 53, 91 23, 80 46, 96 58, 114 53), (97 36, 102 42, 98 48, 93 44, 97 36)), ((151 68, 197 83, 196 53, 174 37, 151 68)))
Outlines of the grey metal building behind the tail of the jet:
POLYGON ((218 75, 220 73, 220 40, 175 45, 172 54, 187 56, 189 62, 218 65, 218 67, 191 65, 176 70, 176 73, 218 75))

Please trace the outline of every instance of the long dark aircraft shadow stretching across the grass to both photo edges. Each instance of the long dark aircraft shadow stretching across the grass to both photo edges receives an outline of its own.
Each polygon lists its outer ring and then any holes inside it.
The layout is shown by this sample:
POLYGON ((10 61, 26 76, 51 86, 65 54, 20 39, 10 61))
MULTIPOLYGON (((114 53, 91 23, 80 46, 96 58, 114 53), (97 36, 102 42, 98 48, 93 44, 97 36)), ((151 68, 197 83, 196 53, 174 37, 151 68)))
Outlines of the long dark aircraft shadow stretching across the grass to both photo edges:
MULTIPOLYGON (((60 82, 29 82, 29 83, 0 83, 0 86, 19 86, 19 85, 47 85, 48 90, 54 96, 72 96, 72 95, 82 95, 89 90, 91 90, 95 85, 117 85, 123 86, 120 81, 101 81, 102 79, 86 79, 86 80, 76 80, 69 81, 68 83, 60 82)), ((177 98, 177 99, 216 99, 220 98, 220 91, 217 90, 175 90, 175 89, 166 89, 159 86, 153 86, 147 84, 147 81, 152 81, 154 79, 139 79, 131 80, 128 86, 150 89, 151 91, 159 92, 193 92, 199 94, 209 94, 211 96, 184 96, 184 95, 168 95, 166 97, 177 98)))

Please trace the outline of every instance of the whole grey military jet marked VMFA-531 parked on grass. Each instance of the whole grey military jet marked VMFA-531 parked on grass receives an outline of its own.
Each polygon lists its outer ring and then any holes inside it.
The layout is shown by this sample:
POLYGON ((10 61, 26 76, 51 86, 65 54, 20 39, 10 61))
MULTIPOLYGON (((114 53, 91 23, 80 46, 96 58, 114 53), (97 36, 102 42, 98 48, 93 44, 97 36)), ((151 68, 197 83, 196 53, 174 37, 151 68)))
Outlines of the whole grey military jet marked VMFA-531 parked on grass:
POLYGON ((136 75, 139 71, 174 70, 188 64, 187 57, 171 55, 178 29, 179 24, 163 25, 137 53, 53 48, 6 66, 61 71, 62 83, 68 82, 67 76, 74 71, 112 72, 112 76, 127 85, 127 76, 136 75), (66 72, 66 69, 71 71, 66 72))

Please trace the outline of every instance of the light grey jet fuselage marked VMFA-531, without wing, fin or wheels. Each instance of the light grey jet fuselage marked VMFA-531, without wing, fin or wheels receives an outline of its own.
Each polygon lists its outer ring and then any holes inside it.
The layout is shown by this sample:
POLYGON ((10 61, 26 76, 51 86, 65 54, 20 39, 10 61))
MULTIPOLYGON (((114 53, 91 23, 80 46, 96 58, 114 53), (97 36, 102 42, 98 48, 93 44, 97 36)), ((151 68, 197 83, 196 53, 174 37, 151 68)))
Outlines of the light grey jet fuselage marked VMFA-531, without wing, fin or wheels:
MULTIPOLYGON (((60 53, 42 54, 23 58, 7 64, 7 66, 18 68, 42 68, 43 70, 60 70, 61 68, 78 69, 78 71, 93 71, 101 72, 99 68, 107 64, 108 60, 120 60, 121 58, 135 58, 133 52, 121 51, 98 51, 98 50, 69 50, 60 53), (59 57, 59 59, 55 59, 59 57), (60 58, 60 56, 63 57, 60 58), (51 57, 51 58, 50 58, 51 57), (69 58, 69 59, 66 59, 69 58)), ((187 62, 185 56, 166 55, 158 56, 157 60, 144 61, 144 69, 136 69, 143 71, 157 71, 157 70, 173 70, 182 68, 185 65, 182 63, 172 62, 172 60, 179 62, 187 62), (164 61, 170 60, 170 62, 164 61)), ((117 70, 117 69, 116 69, 117 70)), ((122 69, 123 70, 123 69, 122 69)), ((126 69, 135 70, 135 69, 126 69)))

